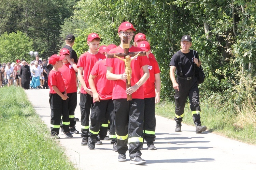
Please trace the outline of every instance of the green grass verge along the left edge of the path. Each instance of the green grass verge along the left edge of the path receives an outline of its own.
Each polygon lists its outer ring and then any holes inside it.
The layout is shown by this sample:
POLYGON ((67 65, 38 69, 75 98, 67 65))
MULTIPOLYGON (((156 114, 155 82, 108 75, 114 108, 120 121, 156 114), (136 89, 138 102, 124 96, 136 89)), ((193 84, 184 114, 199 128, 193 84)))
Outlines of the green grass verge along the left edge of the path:
POLYGON ((22 88, 0 88, 0 169, 75 169, 22 88))

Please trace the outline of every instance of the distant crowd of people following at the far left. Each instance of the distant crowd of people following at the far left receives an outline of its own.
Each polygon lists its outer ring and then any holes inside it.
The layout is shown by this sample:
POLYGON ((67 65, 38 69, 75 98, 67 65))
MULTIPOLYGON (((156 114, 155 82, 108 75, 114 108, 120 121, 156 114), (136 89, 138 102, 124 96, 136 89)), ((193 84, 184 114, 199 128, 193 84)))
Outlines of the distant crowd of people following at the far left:
POLYGON ((14 85, 24 89, 48 89, 47 75, 52 69, 49 58, 42 60, 35 56, 30 63, 17 59, 16 63, 0 64, 0 87, 14 85))

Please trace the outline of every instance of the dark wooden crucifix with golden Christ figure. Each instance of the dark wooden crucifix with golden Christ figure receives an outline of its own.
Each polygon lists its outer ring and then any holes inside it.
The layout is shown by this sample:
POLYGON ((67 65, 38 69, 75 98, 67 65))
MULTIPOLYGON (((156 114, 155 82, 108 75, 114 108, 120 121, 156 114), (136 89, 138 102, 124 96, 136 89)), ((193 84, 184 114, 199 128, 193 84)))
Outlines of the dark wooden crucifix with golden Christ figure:
MULTIPOLYGON (((123 60, 125 62, 125 72, 127 74, 127 79, 126 79, 126 88, 131 87, 130 84, 130 79, 131 79, 131 61, 138 57, 138 56, 145 56, 146 52, 141 51, 141 52, 129 52, 129 47, 130 45, 128 44, 128 37, 124 36, 123 39, 123 48, 124 48, 124 53, 105 53, 108 58, 113 58, 116 57, 120 60, 123 60), (124 58, 121 58, 124 57, 124 58), (130 58, 132 57, 132 58, 130 58)), ((127 101, 132 100, 131 95, 127 94, 127 101)))

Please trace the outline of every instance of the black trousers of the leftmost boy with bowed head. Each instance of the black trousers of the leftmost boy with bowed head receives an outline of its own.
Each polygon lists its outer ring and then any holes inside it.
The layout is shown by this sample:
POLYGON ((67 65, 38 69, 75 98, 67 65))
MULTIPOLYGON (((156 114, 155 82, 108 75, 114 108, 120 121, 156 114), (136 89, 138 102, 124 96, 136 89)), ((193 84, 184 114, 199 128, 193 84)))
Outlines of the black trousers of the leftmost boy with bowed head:
POLYGON ((62 115, 63 132, 69 132, 69 111, 66 100, 62 100, 58 94, 49 94, 51 108, 51 135, 58 135, 60 118, 62 115))

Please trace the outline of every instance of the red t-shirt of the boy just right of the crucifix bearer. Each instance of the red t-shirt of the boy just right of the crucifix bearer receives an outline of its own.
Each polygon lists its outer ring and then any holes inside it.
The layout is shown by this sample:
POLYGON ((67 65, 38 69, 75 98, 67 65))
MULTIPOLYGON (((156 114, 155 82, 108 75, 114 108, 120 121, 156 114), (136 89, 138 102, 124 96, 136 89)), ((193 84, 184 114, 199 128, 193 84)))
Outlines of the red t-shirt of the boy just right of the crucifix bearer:
MULTIPOLYGON (((150 72, 150 77, 143 84, 145 98, 156 97, 155 74, 160 73, 160 69, 159 69, 157 61, 150 57, 148 58, 148 60, 150 61, 150 64, 147 65, 148 71, 150 72)), ((143 75, 142 69, 141 69, 141 75, 143 75)))

